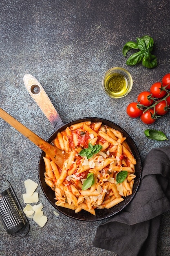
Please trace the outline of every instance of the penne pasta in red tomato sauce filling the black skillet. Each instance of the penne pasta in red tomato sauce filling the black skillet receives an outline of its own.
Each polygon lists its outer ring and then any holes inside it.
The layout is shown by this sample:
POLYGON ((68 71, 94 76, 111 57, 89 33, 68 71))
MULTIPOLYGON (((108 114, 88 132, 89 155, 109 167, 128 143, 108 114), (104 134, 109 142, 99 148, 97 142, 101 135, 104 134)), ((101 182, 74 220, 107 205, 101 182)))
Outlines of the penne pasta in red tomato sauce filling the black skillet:
POLYGON ((75 213, 88 211, 95 216, 96 208, 109 209, 132 194, 136 159, 119 130, 102 122, 79 122, 58 132, 53 143, 68 153, 62 169, 49 155, 43 157, 44 180, 55 191, 56 206, 75 213), (86 155, 88 147, 92 150, 90 157, 86 155), (97 147, 99 150, 95 151, 97 147), (82 149, 85 149, 83 154, 82 149), (117 174, 121 171, 127 171, 128 175, 117 184, 117 174), (91 184, 84 187, 88 175, 91 184))

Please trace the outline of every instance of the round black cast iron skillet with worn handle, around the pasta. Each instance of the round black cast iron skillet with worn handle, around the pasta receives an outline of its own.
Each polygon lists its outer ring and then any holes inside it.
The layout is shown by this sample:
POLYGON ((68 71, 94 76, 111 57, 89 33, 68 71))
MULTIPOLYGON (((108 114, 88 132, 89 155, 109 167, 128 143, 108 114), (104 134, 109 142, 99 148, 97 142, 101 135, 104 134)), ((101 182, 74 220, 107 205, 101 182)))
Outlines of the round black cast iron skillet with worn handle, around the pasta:
POLYGON ((135 159, 137 160, 137 164, 135 165, 135 175, 137 177, 135 178, 135 182, 133 185, 132 195, 125 197, 124 201, 120 202, 119 204, 115 205, 114 207, 112 207, 110 209, 95 209, 96 216, 93 216, 91 213, 88 213, 87 211, 84 211, 84 210, 80 211, 79 213, 75 213, 74 210, 67 209, 64 207, 59 207, 59 206, 55 205, 55 202, 56 202, 56 200, 54 199, 55 192, 51 190, 51 188, 46 184, 46 182, 44 180, 45 165, 44 165, 43 156, 45 155, 45 153, 42 151, 40 154, 40 158, 39 158, 38 175, 39 175, 40 186, 41 186, 42 191, 43 191, 44 195, 46 196, 47 200, 49 200, 49 202, 53 205, 53 207, 55 207, 55 209, 57 209, 64 215, 74 218, 76 220, 84 220, 84 221, 103 220, 103 219, 111 217, 111 216, 119 213, 121 210, 123 210, 130 203, 130 201, 132 201, 132 199, 134 198, 135 194, 137 193, 137 189, 139 187, 139 183, 141 180, 141 158, 139 155, 139 150, 137 149, 137 146, 136 146, 135 142, 133 141, 133 139, 130 137, 130 135, 128 135, 128 133, 123 128, 118 126, 117 124, 113 123, 112 121, 108 121, 108 120, 102 119, 102 118, 87 117, 87 118, 82 118, 82 119, 75 119, 67 124, 64 124, 62 122, 62 120, 60 119, 60 116, 58 115, 58 113, 56 112, 54 107, 52 106, 51 101, 49 100, 48 96, 44 92, 44 89, 42 88, 40 83, 30 74, 26 74, 24 76, 24 84, 25 84, 27 90, 29 91, 29 93, 31 94, 31 96, 33 97, 33 99, 36 101, 38 106, 40 106, 40 108, 42 109, 42 111, 44 112, 46 117, 49 119, 49 121, 51 121, 51 123, 53 124, 53 126, 55 128, 55 132, 49 137, 48 142, 51 143, 51 141, 53 141, 53 139, 57 136, 57 133, 64 130, 67 126, 71 126, 73 124, 77 124, 77 123, 83 122, 83 121, 102 122, 103 124, 106 124, 106 125, 110 126, 111 128, 119 130, 120 132, 123 133, 124 137, 126 137, 126 141, 127 141, 128 145, 130 146, 130 149, 132 150, 132 153, 133 153, 135 159), (36 90, 34 91, 34 89, 36 89, 36 90), (46 106, 48 106, 47 109, 46 108, 44 109, 44 106, 42 106, 42 102, 46 102, 46 106), (49 108, 51 109, 51 111, 48 112, 49 108), (53 112, 52 115, 51 115, 51 112, 53 112))

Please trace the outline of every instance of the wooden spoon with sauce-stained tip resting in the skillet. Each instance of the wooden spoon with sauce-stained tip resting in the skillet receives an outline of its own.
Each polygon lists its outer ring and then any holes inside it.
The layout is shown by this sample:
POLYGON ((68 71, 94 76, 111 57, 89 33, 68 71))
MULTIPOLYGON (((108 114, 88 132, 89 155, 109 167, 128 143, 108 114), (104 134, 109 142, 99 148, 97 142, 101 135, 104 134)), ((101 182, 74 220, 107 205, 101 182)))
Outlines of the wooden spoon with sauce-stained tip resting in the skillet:
POLYGON ((55 162, 55 164, 57 164, 60 168, 63 167, 64 160, 68 158, 67 153, 63 153, 63 151, 60 150, 59 148, 55 148, 55 146, 40 138, 34 132, 32 132, 19 121, 17 121, 15 118, 11 117, 11 115, 5 112, 2 108, 0 108, 0 117, 4 119, 8 124, 13 126, 13 128, 22 133, 22 135, 30 139, 35 145, 41 148, 47 155, 51 157, 51 160, 55 162))

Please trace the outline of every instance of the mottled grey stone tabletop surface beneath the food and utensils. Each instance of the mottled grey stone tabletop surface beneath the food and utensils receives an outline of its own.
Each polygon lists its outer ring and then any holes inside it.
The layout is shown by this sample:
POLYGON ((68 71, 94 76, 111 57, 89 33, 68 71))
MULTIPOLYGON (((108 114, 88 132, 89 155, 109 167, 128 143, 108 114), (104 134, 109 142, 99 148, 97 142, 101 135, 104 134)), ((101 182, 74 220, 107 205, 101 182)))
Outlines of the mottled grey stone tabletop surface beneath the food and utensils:
MULTIPOLYGON (((126 107, 170 72, 170 5, 168 0, 3 0, 0 2, 0 107, 48 139, 53 126, 26 91, 23 76, 32 74, 43 86, 64 123, 81 117, 101 117, 124 128, 134 139, 141 158, 169 141, 144 136, 147 125, 130 119, 126 107), (158 66, 126 65, 122 47, 136 37, 155 41, 158 66), (112 99, 102 90, 102 76, 111 67, 126 68, 133 88, 127 97, 112 99)), ((170 114, 150 125, 170 138, 170 114)), ((0 177, 11 182, 25 206, 24 180, 38 182, 40 149, 0 119, 0 177)), ((114 256, 92 241, 99 224, 81 222, 60 213, 46 200, 40 202, 48 222, 40 228, 30 220, 29 234, 12 238, 0 222, 0 256, 114 256)), ((163 214, 157 256, 170 255, 170 212, 163 214)))

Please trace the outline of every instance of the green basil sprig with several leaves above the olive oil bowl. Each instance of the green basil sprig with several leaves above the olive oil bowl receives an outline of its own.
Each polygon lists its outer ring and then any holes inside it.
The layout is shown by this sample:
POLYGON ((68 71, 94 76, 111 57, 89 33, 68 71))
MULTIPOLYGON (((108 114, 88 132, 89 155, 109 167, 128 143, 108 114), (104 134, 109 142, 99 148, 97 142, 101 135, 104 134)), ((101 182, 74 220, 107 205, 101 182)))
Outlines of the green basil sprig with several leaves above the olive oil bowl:
POLYGON ((133 66, 142 61, 142 65, 147 68, 157 66, 157 57, 152 55, 154 40, 150 36, 137 37, 136 42, 127 42, 123 47, 123 55, 126 56, 130 49, 139 49, 139 52, 132 54, 126 61, 127 65, 133 66))

